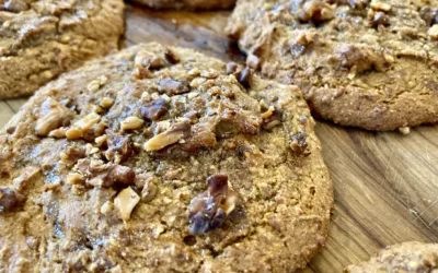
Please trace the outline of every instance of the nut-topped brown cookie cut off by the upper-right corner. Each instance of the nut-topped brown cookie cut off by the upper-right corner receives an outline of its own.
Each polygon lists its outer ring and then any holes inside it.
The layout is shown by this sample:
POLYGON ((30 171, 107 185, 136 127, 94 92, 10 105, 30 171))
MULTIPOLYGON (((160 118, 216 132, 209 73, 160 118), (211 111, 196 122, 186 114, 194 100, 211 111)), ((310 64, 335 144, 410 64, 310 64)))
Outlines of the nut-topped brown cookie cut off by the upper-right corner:
POLYGON ((435 0, 240 0, 247 64, 297 84, 316 117, 368 130, 438 121, 435 0))

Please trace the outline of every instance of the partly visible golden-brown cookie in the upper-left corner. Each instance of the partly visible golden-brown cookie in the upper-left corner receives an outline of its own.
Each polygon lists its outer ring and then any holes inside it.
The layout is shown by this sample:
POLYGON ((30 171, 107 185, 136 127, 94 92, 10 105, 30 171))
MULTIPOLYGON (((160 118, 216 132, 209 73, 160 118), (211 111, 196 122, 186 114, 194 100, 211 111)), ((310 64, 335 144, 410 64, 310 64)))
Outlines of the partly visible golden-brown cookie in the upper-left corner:
POLYGON ((123 32, 122 0, 0 0, 0 98, 117 50, 123 32))

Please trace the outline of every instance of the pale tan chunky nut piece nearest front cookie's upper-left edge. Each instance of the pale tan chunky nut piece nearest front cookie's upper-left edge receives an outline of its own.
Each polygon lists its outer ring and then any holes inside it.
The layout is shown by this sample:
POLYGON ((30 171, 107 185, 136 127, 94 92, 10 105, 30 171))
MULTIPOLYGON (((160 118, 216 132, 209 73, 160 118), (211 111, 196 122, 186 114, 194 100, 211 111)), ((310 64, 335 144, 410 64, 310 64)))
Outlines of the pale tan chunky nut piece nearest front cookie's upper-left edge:
POLYGON ((50 131, 66 124, 69 120, 69 111, 57 100, 48 97, 42 105, 35 132, 37 135, 46 136, 50 131))

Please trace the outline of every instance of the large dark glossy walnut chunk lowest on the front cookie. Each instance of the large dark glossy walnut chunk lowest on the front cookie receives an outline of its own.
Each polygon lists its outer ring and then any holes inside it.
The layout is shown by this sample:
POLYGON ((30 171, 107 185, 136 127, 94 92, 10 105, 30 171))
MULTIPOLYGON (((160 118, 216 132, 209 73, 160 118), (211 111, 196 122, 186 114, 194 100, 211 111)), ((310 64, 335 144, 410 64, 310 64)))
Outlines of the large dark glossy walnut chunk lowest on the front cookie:
POLYGON ((207 179, 208 189, 192 199, 188 207, 189 232, 203 235, 220 227, 241 200, 228 188, 228 176, 217 174, 207 179))

